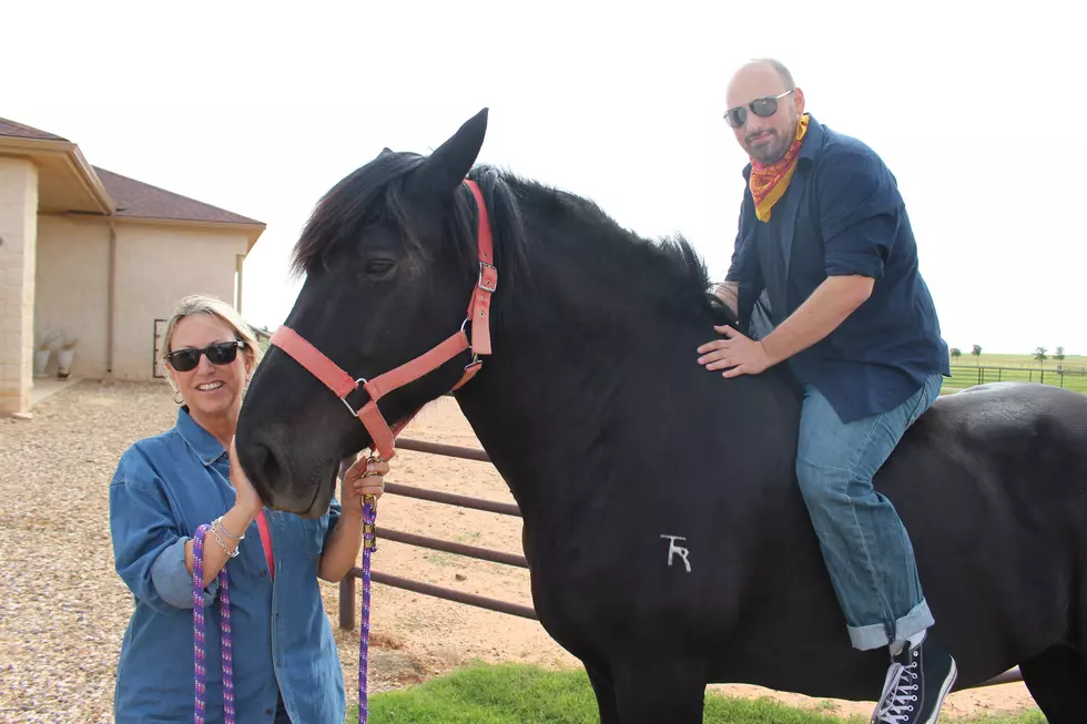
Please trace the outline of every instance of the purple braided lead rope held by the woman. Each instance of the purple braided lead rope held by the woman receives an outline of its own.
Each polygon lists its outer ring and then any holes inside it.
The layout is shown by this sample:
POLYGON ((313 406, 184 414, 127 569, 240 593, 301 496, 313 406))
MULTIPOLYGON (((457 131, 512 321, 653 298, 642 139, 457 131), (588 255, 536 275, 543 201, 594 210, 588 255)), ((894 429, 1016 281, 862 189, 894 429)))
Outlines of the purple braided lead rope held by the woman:
MULTIPOLYGON (((377 520, 377 509, 374 498, 366 496, 363 506, 363 621, 362 635, 358 640, 358 724, 366 724, 369 716, 367 704, 366 675, 368 669, 367 651, 369 649, 369 565, 370 554, 377 550, 374 534, 374 523, 377 520)), ((207 670, 204 656, 204 536, 211 526, 204 523, 196 529, 193 538, 193 641, 194 669, 196 679, 195 724, 204 724, 207 695, 207 670)), ((234 654, 231 644, 231 596, 226 582, 226 567, 216 577, 220 585, 220 636, 223 646, 223 708, 226 724, 234 721, 234 654)))

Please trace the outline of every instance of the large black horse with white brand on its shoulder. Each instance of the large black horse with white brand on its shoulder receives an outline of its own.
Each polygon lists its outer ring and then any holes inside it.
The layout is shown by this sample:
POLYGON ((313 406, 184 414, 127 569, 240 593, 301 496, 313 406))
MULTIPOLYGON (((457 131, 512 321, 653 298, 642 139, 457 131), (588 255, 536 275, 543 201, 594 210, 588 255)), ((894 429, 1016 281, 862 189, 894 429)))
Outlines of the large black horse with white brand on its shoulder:
MULTIPOLYGON (((455 333, 479 276, 464 183, 476 181, 500 281, 492 354, 456 398, 522 511, 540 622, 585 663, 601 722, 701 722, 709 682, 875 698, 887 653, 850 646, 794 476, 788 375, 700 367, 712 325, 735 319, 689 244, 476 167, 485 131, 486 110, 428 157, 386 149, 333 187, 296 246, 307 278, 285 324, 366 377, 455 333)), ((681 179, 660 183, 682 193, 681 179)), ((409 417, 469 359, 380 411, 409 417)), ((339 461, 372 445, 275 347, 236 440, 262 498, 303 516, 327 508, 339 461)), ((1018 664, 1050 724, 1084 721, 1085 441, 1087 397, 978 387, 941 398, 875 482, 910 530, 929 635, 956 657, 958 687, 1018 664)))

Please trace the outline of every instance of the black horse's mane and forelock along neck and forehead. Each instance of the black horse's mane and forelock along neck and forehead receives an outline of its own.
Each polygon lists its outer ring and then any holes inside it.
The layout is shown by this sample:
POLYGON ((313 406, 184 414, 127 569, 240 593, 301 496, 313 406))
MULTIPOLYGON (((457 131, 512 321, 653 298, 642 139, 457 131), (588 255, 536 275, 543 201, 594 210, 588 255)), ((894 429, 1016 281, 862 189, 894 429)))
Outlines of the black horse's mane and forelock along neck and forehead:
MULTIPOLYGON (((358 238, 363 230, 382 221, 395 221, 408 254, 429 259, 420 242, 416 220, 407 211, 405 181, 425 157, 414 153, 384 151, 356 170, 316 204, 295 245, 292 271, 313 273, 327 265, 329 253, 345 239, 358 238)), ((638 287, 652 289, 653 302, 684 315, 711 314, 721 323, 734 324, 735 316, 709 294, 705 263, 681 234, 650 239, 622 228, 596 203, 572 193, 525 180, 490 165, 478 165, 468 177, 479 184, 495 236, 495 263, 504 287, 528 278, 532 248, 528 217, 544 218, 565 230, 577 230, 587 239, 579 263, 621 267, 621 274, 638 287), (591 239, 591 246, 588 245, 591 239)), ((465 188, 454 195, 447 215, 447 232, 458 251, 459 265, 473 277, 478 273, 475 239, 475 200, 465 188)), ((542 241, 542 234, 539 234, 542 241)), ((538 247, 537 247, 538 248, 538 247)), ((544 252, 546 253, 546 252, 544 252)), ((626 292, 624 292, 626 293, 626 292)))

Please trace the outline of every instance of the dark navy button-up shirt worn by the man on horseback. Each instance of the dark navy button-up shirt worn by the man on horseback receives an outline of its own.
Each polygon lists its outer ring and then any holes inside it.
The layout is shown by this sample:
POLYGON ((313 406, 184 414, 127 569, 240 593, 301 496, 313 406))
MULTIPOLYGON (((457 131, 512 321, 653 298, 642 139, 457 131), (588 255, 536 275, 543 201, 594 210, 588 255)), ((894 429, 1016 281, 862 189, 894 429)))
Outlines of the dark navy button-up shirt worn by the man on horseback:
MULTIPOLYGON (((743 173, 750 177, 750 164, 743 173)), ((872 149, 811 118, 770 221, 754 212, 749 187, 725 277, 739 283, 745 334, 753 315, 780 325, 829 276, 875 278, 864 304, 788 360, 798 381, 814 385, 843 421, 896 407, 934 373, 951 375, 905 204, 872 149)))

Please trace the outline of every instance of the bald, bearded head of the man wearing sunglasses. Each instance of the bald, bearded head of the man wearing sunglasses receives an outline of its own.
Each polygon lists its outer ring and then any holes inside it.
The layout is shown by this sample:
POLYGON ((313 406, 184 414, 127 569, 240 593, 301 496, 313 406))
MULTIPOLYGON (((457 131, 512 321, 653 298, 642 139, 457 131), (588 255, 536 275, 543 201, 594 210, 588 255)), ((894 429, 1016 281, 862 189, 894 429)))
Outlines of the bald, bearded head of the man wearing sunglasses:
POLYGON ((784 63, 774 59, 744 63, 729 81, 727 102, 733 119, 743 116, 743 123, 732 132, 748 155, 764 164, 785 155, 804 113, 804 92, 796 88, 784 63), (751 103, 760 99, 776 99, 778 110, 765 118, 756 115, 751 103))

